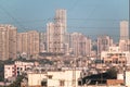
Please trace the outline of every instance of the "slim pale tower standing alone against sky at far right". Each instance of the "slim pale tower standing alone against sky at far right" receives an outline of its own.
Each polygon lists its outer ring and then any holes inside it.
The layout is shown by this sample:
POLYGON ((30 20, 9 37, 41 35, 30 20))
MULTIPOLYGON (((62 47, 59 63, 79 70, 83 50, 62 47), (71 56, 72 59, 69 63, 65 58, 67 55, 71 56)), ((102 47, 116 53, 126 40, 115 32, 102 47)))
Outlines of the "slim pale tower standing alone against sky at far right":
POLYGON ((129 39, 129 24, 128 21, 120 22, 120 40, 129 39))

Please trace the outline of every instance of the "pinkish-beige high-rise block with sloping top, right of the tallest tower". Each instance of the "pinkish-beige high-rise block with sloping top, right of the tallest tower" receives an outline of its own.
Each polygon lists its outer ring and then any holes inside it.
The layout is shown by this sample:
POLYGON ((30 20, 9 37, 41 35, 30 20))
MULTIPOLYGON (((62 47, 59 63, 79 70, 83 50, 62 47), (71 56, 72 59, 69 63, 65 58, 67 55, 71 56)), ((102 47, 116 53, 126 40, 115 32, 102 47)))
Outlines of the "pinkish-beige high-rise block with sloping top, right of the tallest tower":
POLYGON ((73 33, 70 37, 72 54, 89 57, 91 54, 91 39, 79 33, 73 33))

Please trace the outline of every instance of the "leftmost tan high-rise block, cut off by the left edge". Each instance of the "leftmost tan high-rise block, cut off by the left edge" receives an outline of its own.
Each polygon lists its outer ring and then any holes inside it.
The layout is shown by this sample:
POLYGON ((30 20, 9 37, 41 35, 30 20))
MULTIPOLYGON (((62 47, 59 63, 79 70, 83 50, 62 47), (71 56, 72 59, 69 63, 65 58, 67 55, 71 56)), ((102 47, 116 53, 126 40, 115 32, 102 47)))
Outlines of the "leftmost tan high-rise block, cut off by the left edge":
POLYGON ((16 27, 0 25, 0 60, 16 59, 16 27))

